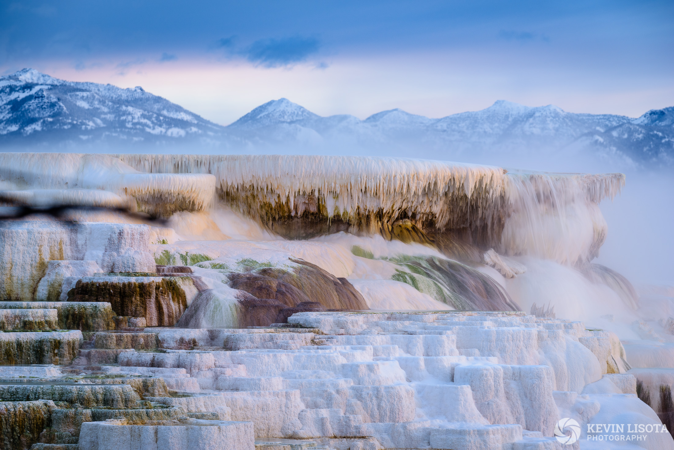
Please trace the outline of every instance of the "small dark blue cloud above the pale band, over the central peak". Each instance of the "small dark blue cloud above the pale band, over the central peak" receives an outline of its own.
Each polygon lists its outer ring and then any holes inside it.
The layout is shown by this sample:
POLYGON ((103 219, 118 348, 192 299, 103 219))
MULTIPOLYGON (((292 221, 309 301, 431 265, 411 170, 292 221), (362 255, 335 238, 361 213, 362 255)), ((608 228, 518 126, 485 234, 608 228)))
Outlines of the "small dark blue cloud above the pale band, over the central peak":
POLYGON ((241 53, 248 61, 264 67, 280 67, 305 61, 316 53, 319 42, 316 38, 294 36, 282 39, 256 40, 241 53))

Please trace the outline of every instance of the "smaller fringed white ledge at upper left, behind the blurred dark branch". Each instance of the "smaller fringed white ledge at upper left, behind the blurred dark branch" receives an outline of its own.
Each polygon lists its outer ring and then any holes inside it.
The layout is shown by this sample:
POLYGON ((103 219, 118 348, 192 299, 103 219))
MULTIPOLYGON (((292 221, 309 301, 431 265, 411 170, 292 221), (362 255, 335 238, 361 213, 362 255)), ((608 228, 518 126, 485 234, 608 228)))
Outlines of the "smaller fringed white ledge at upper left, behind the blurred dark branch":
POLYGON ((141 173, 103 154, 0 153, 0 190, 20 191, 11 195, 28 206, 130 202, 148 213, 169 215, 206 208, 214 181, 203 174, 141 173))

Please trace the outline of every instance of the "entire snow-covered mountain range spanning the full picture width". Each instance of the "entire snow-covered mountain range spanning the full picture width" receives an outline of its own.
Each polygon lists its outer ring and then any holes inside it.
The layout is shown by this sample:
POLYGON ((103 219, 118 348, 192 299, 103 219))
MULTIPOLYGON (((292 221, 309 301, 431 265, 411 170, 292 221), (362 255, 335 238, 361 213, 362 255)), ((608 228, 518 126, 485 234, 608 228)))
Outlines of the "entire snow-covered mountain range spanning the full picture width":
POLYGON ((379 154, 507 165, 592 157, 618 167, 674 165, 674 107, 636 119, 497 101, 429 119, 400 109, 321 117, 287 99, 226 127, 137 87, 57 80, 33 69, 0 77, 6 148, 379 154), (514 162, 512 163, 514 164, 514 162))

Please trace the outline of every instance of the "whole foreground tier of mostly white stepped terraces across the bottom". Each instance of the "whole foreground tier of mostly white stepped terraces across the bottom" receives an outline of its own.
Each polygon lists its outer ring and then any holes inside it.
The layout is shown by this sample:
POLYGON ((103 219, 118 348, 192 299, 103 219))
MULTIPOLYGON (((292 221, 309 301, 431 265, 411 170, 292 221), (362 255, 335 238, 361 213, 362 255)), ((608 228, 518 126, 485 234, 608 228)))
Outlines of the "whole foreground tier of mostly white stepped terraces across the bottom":
POLYGON ((0 369, 4 448, 565 449, 578 443, 553 437, 559 418, 583 424, 582 442, 585 424, 621 420, 616 401, 661 423, 611 333, 522 312, 67 333, 86 339, 73 364, 0 369), (16 437, 19 414, 32 422, 16 437))

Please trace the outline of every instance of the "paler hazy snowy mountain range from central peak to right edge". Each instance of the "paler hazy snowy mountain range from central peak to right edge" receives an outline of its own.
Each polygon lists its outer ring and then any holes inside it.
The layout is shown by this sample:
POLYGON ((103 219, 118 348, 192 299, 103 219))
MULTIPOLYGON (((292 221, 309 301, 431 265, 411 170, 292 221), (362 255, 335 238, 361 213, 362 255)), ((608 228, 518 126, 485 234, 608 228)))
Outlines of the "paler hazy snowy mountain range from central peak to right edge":
POLYGON ((674 107, 648 111, 634 119, 499 100, 481 111, 441 119, 392 109, 360 120, 351 115, 320 117, 280 99, 257 107, 229 125, 227 132, 268 148, 318 146, 355 154, 365 149, 394 156, 421 153, 425 158, 495 164, 508 164, 513 158, 590 156, 612 161, 617 168, 667 167, 674 165, 673 117, 674 107))

